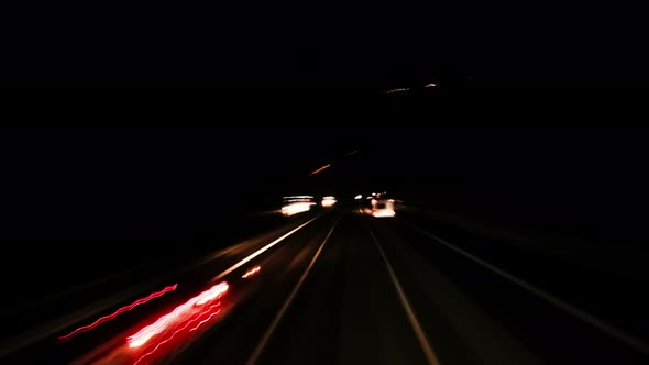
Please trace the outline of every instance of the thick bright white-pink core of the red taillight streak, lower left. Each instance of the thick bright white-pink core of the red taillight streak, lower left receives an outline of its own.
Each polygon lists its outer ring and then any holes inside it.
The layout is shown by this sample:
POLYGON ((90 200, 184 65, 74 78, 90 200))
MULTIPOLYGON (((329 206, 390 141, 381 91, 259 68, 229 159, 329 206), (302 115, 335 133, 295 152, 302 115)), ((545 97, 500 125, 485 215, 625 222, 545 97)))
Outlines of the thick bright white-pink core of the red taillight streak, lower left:
POLYGON ((198 296, 189 299, 184 305, 176 307, 172 312, 161 317, 157 321, 153 324, 148 324, 138 333, 128 338, 129 347, 139 347, 145 344, 151 338, 164 331, 169 324, 174 323, 178 319, 180 319, 184 314, 186 314, 195 305, 200 306, 204 305, 212 299, 218 298, 226 291, 228 291, 228 284, 220 283, 215 285, 209 290, 206 290, 198 296))

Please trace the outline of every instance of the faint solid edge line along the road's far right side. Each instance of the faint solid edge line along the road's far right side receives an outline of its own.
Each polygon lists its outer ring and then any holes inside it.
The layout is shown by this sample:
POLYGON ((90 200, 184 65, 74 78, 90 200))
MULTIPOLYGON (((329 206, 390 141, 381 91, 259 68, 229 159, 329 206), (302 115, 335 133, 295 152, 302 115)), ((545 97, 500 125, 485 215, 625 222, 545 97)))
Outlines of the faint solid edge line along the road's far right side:
POLYGON ((551 294, 549 294, 542 289, 539 289, 536 286, 534 286, 522 279, 515 277, 514 275, 485 262, 484 259, 481 259, 481 258, 468 253, 466 251, 464 251, 453 244, 450 244, 449 242, 438 237, 437 235, 435 235, 428 231, 425 231, 425 230, 418 228, 417 225, 415 225, 410 222, 407 222, 404 220, 402 220, 402 222, 405 222, 406 224, 410 225, 416 231, 419 231, 421 234, 441 243, 442 245, 447 246, 448 248, 450 248, 450 250, 459 253, 460 255, 471 259, 472 262, 483 266, 484 268, 491 270, 492 273, 509 280, 510 283, 517 285, 518 287, 531 292, 532 295, 546 300, 547 302, 566 311, 568 313, 570 313, 576 318, 579 318, 583 322, 585 322, 585 323, 603 331, 604 333, 626 343, 627 345, 634 347, 635 350, 637 350, 644 354, 649 354, 649 344, 647 344, 642 340, 634 338, 632 335, 613 327, 612 324, 606 323, 605 321, 595 318, 593 314, 590 314, 576 307, 573 307, 572 305, 552 296, 551 294))

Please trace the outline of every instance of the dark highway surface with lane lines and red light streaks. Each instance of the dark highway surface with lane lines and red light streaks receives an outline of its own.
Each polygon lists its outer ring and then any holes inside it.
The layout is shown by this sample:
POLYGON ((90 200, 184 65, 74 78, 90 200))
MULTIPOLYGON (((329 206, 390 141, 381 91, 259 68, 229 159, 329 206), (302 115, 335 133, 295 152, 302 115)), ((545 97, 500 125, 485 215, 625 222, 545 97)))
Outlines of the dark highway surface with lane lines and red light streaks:
POLYGON ((399 211, 394 218, 353 207, 297 214, 200 259, 152 270, 129 295, 101 310, 92 303, 76 311, 76 320, 57 331, 50 325, 37 341, 10 338, 1 361, 648 363, 642 333, 624 321, 593 314, 480 242, 455 243, 455 233, 441 237, 435 229, 399 211), (147 300, 133 306, 138 298, 147 300))

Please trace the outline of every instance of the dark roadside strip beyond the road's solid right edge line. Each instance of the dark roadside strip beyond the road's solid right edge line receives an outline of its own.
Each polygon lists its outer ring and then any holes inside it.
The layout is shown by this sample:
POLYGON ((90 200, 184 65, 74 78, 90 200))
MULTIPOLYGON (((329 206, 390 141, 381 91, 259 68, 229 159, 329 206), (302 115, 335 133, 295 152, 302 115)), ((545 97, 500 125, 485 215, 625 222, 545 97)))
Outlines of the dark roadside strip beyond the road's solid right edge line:
MULTIPOLYGON (((644 296, 644 288, 649 286, 649 268, 644 264, 649 259, 647 248, 552 235, 551 230, 541 234, 516 226, 512 221, 507 224, 494 221, 493 217, 453 214, 430 203, 405 203, 399 208, 399 218, 406 222, 626 335, 645 343, 649 340, 646 316, 649 302, 644 296)), ((446 248, 436 240, 429 240, 429 244, 446 248)), ((466 265, 480 266, 451 250, 446 251, 466 265)))

